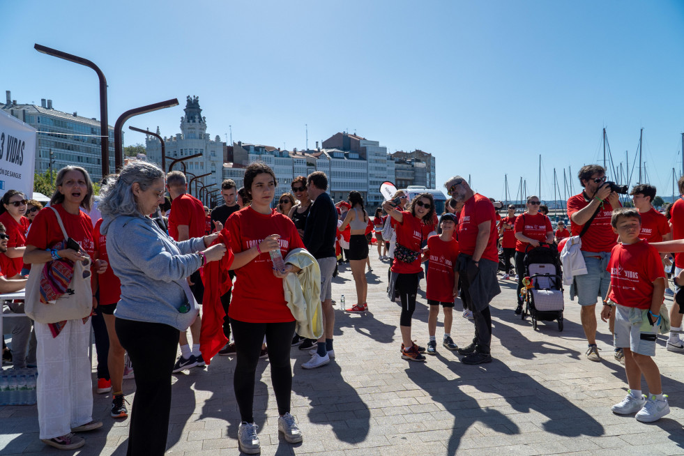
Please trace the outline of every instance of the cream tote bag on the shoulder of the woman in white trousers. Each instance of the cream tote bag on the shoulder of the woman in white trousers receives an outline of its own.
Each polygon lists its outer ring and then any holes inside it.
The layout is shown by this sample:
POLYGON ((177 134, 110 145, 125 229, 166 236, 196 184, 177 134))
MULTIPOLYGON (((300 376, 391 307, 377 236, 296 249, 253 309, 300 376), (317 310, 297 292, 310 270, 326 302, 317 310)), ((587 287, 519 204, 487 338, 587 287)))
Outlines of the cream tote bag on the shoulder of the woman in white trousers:
MULTIPOLYGON (((64 241, 66 241, 69 236, 66 234, 59 212, 53 207, 50 208, 57 216, 57 222, 59 222, 64 241)), ((86 257, 85 261, 75 261, 74 275, 66 293, 50 304, 40 301, 40 278, 43 275, 45 263, 32 264, 29 280, 26 281, 26 301, 24 304, 26 315, 43 324, 88 317, 93 310, 93 291, 90 284, 91 262, 90 257, 86 257)))

